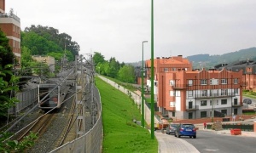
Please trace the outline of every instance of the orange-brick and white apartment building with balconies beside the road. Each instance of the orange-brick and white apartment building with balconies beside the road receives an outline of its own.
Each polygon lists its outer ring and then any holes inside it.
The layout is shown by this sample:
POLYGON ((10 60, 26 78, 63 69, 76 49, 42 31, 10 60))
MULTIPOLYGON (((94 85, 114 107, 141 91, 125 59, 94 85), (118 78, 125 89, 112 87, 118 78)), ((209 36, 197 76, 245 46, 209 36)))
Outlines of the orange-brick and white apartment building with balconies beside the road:
MULTIPOLYGON (((147 85, 150 59, 146 61, 147 85)), ((158 111, 176 119, 240 115, 242 71, 192 70, 181 55, 154 59, 154 100, 158 111)))

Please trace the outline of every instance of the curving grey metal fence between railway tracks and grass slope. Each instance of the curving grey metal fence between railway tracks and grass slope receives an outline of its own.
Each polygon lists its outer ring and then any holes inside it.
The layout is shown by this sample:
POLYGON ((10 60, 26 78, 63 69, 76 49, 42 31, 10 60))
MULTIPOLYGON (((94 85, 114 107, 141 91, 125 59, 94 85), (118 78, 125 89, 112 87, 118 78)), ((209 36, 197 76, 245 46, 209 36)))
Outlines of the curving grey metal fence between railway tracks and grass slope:
POLYGON ((99 153, 102 152, 102 103, 101 96, 98 89, 94 88, 94 99, 96 100, 97 115, 98 119, 96 124, 78 139, 74 139, 67 144, 61 145, 61 147, 56 148, 50 152, 60 152, 60 153, 73 153, 73 152, 92 152, 99 153))

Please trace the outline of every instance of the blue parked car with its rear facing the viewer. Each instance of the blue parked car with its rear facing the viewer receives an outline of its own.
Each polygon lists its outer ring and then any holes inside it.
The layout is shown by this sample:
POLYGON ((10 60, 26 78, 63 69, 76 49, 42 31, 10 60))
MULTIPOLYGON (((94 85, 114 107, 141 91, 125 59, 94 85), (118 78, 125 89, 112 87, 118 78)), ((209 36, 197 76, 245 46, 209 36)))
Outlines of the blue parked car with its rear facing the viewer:
POLYGON ((177 130, 174 133, 175 137, 180 138, 181 136, 189 136, 189 138, 196 139, 196 129, 194 124, 178 124, 177 130))

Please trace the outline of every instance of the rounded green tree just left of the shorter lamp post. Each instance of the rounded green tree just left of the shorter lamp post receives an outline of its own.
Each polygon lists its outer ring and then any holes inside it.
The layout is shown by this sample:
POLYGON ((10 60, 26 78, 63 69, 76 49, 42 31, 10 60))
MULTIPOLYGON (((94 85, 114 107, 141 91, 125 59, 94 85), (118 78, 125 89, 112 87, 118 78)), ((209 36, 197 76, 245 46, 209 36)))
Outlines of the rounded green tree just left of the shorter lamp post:
POLYGON ((131 65, 123 66, 118 73, 118 79, 122 82, 135 82, 135 70, 134 67, 131 65))

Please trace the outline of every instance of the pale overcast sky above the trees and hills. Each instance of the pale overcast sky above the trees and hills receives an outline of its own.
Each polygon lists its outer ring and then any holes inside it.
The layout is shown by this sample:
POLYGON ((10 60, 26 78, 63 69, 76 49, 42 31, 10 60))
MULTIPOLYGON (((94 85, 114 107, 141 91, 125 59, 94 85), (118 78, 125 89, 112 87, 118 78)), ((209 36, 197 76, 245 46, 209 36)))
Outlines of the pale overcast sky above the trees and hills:
MULTIPOLYGON (((5 12, 10 8, 21 31, 53 27, 78 42, 79 54, 125 63, 151 58, 151 0, 6 0, 5 12)), ((154 0, 154 58, 255 46, 255 0, 154 0)))

